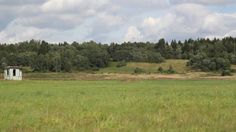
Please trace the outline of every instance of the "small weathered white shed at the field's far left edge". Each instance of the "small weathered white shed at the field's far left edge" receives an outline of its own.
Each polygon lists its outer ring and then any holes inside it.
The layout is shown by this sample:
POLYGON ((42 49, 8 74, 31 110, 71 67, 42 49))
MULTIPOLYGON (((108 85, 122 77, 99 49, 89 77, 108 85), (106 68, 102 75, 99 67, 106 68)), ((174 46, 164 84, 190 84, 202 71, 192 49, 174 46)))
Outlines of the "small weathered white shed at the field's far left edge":
POLYGON ((18 66, 8 66, 4 70, 5 80, 22 80, 22 71, 18 66))

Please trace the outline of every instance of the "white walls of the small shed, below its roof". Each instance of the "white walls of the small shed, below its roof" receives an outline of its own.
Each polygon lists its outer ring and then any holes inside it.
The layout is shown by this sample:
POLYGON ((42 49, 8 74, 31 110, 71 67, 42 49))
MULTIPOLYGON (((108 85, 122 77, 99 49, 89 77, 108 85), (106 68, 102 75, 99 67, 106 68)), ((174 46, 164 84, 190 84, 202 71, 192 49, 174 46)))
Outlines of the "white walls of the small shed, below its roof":
POLYGON ((20 69, 7 69, 4 71, 4 79, 5 80, 22 80, 22 71, 20 69), (7 70, 8 73, 7 74, 7 70), (15 76, 13 76, 13 71, 15 70, 15 76))

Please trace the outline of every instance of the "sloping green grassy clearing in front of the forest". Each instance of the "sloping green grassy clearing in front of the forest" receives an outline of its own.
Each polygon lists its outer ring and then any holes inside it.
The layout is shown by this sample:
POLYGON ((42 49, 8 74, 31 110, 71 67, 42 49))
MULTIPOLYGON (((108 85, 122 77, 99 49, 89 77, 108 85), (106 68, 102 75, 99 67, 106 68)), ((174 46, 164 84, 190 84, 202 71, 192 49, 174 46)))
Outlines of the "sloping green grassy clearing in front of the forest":
POLYGON ((157 69, 161 66, 168 69, 171 65, 177 73, 186 73, 189 68, 186 66, 187 60, 166 60, 163 63, 143 63, 143 62, 129 62, 127 66, 117 68, 116 62, 110 64, 109 67, 103 68, 99 73, 133 73, 136 67, 144 69, 147 73, 156 73, 157 69))

